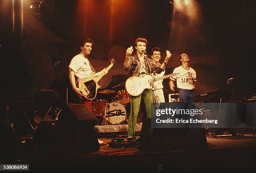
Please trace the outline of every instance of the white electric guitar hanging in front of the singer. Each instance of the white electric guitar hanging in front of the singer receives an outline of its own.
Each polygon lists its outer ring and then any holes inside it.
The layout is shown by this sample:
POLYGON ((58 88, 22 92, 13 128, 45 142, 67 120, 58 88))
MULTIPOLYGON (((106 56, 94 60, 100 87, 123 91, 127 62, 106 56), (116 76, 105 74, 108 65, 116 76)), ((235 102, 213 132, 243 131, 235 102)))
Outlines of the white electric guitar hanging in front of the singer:
MULTIPOLYGON (((168 74, 161 77, 156 77, 154 81, 159 81, 162 79, 170 78, 172 76, 176 76, 179 73, 168 74)), ((152 76, 146 75, 143 78, 137 76, 131 76, 125 82, 125 88, 129 94, 132 96, 140 95, 144 89, 151 89, 152 88, 152 76)))

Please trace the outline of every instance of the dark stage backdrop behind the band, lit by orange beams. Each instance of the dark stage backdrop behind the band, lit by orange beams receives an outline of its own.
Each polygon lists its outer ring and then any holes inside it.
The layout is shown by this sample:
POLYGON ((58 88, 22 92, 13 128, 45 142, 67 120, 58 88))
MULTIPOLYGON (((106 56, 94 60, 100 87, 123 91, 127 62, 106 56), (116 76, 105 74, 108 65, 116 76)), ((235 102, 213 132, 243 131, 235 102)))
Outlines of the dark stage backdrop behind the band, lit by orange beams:
MULTIPOLYGON (((57 86, 54 89, 65 89, 69 83, 66 66, 79 53, 76 46, 84 37, 95 41, 91 59, 107 60, 114 45, 126 49, 133 46, 137 37, 148 39, 148 52, 159 46, 177 55, 184 52, 191 57, 216 55, 221 61, 217 67, 217 77, 222 80, 220 88, 227 90, 226 80, 234 77, 235 99, 255 93, 255 0, 188 0, 190 4, 184 10, 175 12, 174 5, 178 1, 172 4, 169 0, 44 0, 40 10, 40 0, 23 0, 23 9, 20 2, 14 0, 14 5, 10 0, 0 2, 3 99, 31 94, 39 88, 54 88, 54 85, 57 86), (29 8, 30 5, 35 8, 29 8), (23 28, 21 9, 43 23, 62 43, 46 43, 37 37, 40 33, 31 31, 31 34, 30 28, 23 28), (196 15, 189 15, 194 11, 196 15), (31 52, 47 49, 50 59, 46 62, 50 62, 51 67, 44 63, 34 64, 34 61, 41 61, 40 57, 31 58, 31 61, 24 58, 24 51, 28 52, 23 48, 26 43, 31 44, 31 52), (36 46, 35 43, 40 44, 36 46), (51 49, 55 52, 49 51, 51 49), (52 64, 60 56, 68 57, 67 61, 62 59, 64 71, 54 70, 55 76, 49 71, 49 76, 38 76, 49 77, 49 83, 39 82, 35 87, 36 70, 55 68, 52 64), (35 69, 31 70, 30 62, 35 69)), ((207 76, 205 80, 211 81, 211 78, 207 76)))

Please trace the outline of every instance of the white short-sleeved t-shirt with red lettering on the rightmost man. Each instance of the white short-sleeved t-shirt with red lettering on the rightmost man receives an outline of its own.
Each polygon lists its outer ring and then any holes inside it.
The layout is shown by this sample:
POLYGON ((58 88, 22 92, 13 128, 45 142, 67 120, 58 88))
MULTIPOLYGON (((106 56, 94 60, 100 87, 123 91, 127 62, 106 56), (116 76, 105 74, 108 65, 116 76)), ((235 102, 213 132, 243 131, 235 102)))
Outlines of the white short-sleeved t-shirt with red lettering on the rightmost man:
POLYGON ((174 69, 173 73, 177 73, 176 76, 170 77, 173 81, 177 80, 177 87, 179 89, 194 89, 194 82, 197 81, 197 74, 194 69, 184 69, 179 66, 174 69))

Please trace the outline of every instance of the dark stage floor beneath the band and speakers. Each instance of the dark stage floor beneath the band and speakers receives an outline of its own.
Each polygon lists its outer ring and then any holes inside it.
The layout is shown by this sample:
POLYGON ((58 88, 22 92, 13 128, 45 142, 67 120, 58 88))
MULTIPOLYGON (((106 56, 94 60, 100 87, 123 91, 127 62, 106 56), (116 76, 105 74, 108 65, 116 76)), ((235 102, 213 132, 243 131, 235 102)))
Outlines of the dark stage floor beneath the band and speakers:
POLYGON ((29 164, 30 170, 92 170, 112 172, 247 172, 256 170, 256 136, 244 134, 237 137, 207 137, 207 148, 145 151, 143 148, 111 148, 113 137, 100 137, 107 145, 96 152, 80 150, 56 155, 42 153, 33 142, 23 137, 25 143, 17 148, 13 164, 29 164), (134 170, 134 171, 132 171, 134 170))

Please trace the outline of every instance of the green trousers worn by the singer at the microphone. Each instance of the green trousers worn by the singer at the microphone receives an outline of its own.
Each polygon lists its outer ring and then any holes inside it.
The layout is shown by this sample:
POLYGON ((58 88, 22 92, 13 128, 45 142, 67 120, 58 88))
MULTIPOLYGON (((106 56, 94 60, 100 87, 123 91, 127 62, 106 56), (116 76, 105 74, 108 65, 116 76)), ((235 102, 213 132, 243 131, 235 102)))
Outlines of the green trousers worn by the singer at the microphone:
POLYGON ((145 89, 141 95, 137 97, 131 97, 131 114, 129 117, 128 122, 128 137, 135 137, 135 127, 136 127, 136 121, 138 117, 138 112, 141 105, 141 98, 144 100, 146 111, 147 111, 147 117, 151 118, 151 89, 145 89))

